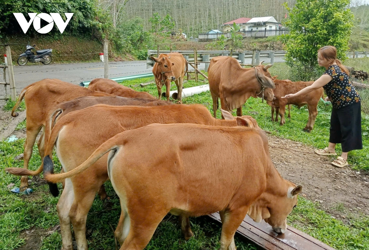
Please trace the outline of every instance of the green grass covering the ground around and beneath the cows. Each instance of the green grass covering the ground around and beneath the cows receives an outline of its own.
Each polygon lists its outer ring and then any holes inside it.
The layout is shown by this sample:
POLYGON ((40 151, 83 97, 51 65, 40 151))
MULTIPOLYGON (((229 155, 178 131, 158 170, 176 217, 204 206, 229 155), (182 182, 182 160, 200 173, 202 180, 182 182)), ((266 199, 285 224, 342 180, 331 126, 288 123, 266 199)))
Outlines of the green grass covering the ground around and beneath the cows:
MULTIPOLYGON (((206 84, 206 81, 194 82, 193 80, 185 82, 184 88, 206 84)), ((145 87, 138 87, 139 83, 153 81, 153 77, 146 79, 135 79, 125 81, 123 85, 132 87, 135 90, 148 91, 157 96, 155 84, 145 87)), ((173 84, 171 90, 175 90, 173 84)), ((163 92, 165 87, 163 87, 163 92)), ((212 100, 209 92, 201 93, 192 97, 183 99, 183 103, 201 103, 209 110, 212 107, 212 100)), ((10 102, 4 107, 10 110, 13 106, 10 102)), ((319 115, 315 122, 314 130, 311 133, 302 131, 307 122, 307 109, 292 109, 292 120, 284 126, 279 126, 270 121, 270 107, 266 103, 261 103, 261 99, 250 98, 244 105, 243 113, 252 115, 258 121, 259 125, 275 135, 284 138, 303 142, 306 145, 322 148, 327 144, 330 107, 319 105, 319 115), (249 113, 253 111, 253 113, 249 113), (291 133, 293 131, 293 133, 291 133)), ((211 111, 212 112, 212 111, 211 111)), ((235 114, 234 114, 235 115, 235 114)), ((217 117, 220 118, 218 111, 217 117)), ((21 126, 21 125, 19 125, 21 126)), ((363 132, 369 131, 369 119, 363 119, 363 132)), ((352 152, 349 155, 349 162, 356 169, 368 169, 368 139, 363 136, 364 150, 352 152)), ((42 237, 42 243, 39 249, 60 249, 61 235, 59 232, 49 230, 58 225, 58 216, 56 213, 56 203, 58 198, 52 197, 48 193, 46 185, 38 186, 38 181, 32 181, 31 188, 34 193, 30 196, 18 196, 10 193, 6 186, 15 183, 19 187, 20 178, 6 174, 5 167, 21 167, 23 162, 14 160, 14 157, 23 153, 24 139, 19 139, 12 143, 0 142, 0 249, 10 250, 24 244, 25 240, 20 236, 21 232, 35 226, 38 234, 42 237)), ((37 149, 34 149, 34 156, 30 161, 30 169, 35 170, 40 164, 37 149)), ((56 165, 58 160, 54 157, 56 165)), ((56 172, 60 167, 56 167, 56 172)), ((88 240, 90 249, 115 249, 113 232, 110 225, 115 228, 120 215, 120 206, 118 197, 114 194, 111 184, 107 182, 107 193, 111 200, 102 202, 96 199, 89 212, 87 219, 88 240)), ((344 209, 344 208, 337 208, 344 209)), ((331 218, 324 211, 318 209, 318 204, 311 202, 303 197, 299 197, 299 205, 293 210, 287 218, 290 225, 308 233, 309 235, 321 240, 335 249, 369 249, 369 218, 362 216, 360 219, 352 217, 350 224, 345 225, 342 221, 331 218)), ((146 249, 219 249, 220 225, 207 219, 206 217, 191 219, 191 225, 195 234, 193 239, 184 241, 181 235, 179 224, 175 216, 165 220, 159 225, 157 233, 151 240, 146 249)), ((256 249, 255 245, 245 242, 241 237, 236 237, 238 249, 256 249)), ((29 248, 30 249, 30 248, 29 248)), ((31 248, 32 249, 32 248, 31 248)), ((35 248, 38 249, 38 248, 35 248)))

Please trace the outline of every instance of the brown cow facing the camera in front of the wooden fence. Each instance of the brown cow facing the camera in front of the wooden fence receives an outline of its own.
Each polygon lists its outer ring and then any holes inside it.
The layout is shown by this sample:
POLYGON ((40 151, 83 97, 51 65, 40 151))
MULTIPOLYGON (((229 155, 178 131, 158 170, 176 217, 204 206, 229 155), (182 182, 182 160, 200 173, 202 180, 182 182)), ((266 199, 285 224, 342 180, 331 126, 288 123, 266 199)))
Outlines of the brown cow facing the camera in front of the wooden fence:
POLYGON ((152 73, 155 76, 159 100, 161 99, 162 87, 165 84, 166 99, 169 101, 170 82, 174 81, 178 90, 178 102, 182 103, 182 83, 187 69, 187 60, 178 52, 160 54, 158 58, 150 56, 150 58, 155 62, 152 73))

